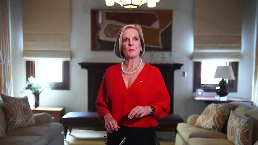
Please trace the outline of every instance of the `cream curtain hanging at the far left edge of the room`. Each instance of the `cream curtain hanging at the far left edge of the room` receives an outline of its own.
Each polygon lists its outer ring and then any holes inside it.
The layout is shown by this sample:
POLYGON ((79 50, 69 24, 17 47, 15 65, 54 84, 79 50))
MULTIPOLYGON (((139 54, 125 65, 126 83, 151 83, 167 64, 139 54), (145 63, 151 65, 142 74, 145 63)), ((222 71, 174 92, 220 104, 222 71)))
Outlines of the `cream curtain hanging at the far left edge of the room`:
POLYGON ((4 62, 0 64, 0 93, 13 96, 7 0, 0 0, 0 40, 0 51, 4 62))

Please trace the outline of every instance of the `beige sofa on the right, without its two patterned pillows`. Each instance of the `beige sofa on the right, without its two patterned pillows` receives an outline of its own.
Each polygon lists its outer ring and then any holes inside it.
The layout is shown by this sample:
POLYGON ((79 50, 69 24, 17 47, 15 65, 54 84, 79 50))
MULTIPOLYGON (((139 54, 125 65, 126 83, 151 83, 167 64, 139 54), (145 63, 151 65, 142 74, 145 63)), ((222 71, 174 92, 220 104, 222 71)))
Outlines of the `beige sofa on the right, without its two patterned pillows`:
MULTIPOLYGON (((248 103, 230 102, 234 104, 233 111, 239 115, 250 117, 250 131, 248 144, 254 145, 258 140, 258 109, 248 103), (252 124, 252 125, 251 125, 252 124), (251 133, 250 133, 251 134, 251 133)), ((200 115, 191 115, 186 123, 178 123, 175 145, 232 145, 227 139, 227 121, 221 132, 214 132, 195 126, 200 115)))

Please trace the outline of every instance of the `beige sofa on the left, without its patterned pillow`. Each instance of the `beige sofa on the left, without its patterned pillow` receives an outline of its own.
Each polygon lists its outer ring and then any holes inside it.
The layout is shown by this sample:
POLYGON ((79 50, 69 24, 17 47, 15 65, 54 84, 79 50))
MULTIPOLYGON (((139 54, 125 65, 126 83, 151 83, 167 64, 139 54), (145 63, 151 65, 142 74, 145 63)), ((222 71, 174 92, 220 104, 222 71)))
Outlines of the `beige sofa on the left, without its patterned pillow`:
POLYGON ((34 114, 36 125, 21 127, 7 132, 3 100, 0 99, 0 124, 5 137, 0 139, 1 145, 63 145, 63 125, 53 123, 48 113, 34 114))

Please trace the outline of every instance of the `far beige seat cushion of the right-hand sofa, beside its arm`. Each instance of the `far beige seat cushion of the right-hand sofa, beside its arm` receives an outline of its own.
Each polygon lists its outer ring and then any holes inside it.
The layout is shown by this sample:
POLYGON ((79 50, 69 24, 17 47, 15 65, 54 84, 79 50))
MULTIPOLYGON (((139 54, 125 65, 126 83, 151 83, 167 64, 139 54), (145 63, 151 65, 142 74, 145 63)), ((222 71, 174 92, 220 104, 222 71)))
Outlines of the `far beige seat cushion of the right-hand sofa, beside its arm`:
POLYGON ((212 132, 207 129, 202 129, 188 123, 178 123, 177 132, 181 137, 188 141, 189 138, 221 138, 227 139, 227 135, 221 132, 212 132))

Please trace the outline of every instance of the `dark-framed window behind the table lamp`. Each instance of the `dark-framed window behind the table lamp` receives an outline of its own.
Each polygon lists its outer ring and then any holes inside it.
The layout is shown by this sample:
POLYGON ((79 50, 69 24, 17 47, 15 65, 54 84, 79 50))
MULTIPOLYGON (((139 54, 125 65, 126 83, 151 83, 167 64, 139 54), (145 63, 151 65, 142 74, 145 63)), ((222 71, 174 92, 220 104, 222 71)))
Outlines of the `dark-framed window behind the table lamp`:
POLYGON ((235 75, 235 80, 226 80, 230 92, 237 92, 238 80, 238 62, 226 61, 202 61, 194 62, 194 85, 193 91, 203 89, 206 92, 215 92, 215 88, 221 81, 219 78, 213 78, 217 66, 231 65, 235 75))

